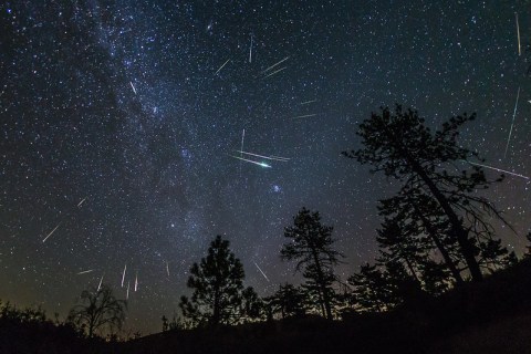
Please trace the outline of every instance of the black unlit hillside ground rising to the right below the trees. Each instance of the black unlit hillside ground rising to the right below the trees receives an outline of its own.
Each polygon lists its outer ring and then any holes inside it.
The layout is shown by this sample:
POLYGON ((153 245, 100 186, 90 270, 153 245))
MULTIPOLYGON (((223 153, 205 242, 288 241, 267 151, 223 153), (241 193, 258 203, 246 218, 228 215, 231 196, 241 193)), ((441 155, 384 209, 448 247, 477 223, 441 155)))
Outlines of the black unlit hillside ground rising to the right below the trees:
POLYGON ((125 343, 90 342, 52 323, 0 320, 0 353, 529 353, 531 259, 383 314, 321 317, 194 331, 125 343))

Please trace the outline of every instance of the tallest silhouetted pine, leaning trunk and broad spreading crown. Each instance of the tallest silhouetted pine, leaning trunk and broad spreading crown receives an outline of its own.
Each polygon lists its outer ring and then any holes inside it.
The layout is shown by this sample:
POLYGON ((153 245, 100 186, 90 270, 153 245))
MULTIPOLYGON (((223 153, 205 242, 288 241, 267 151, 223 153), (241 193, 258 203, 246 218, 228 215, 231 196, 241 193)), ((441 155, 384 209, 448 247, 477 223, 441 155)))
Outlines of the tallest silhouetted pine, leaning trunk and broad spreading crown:
POLYGON ((501 178, 488 180, 477 165, 461 173, 454 171, 456 163, 479 158, 477 153, 457 144, 459 128, 475 117, 475 114, 451 117, 433 133, 416 111, 404 111, 396 105, 392 113, 383 107, 379 114, 373 113, 360 124, 357 135, 362 137, 363 148, 343 155, 371 164, 373 173, 384 171, 387 177, 414 186, 436 200, 437 209, 448 221, 448 236, 459 246, 472 280, 479 281, 482 273, 476 258, 479 251, 475 238, 489 228, 485 214, 504 220, 488 199, 475 194, 501 178))

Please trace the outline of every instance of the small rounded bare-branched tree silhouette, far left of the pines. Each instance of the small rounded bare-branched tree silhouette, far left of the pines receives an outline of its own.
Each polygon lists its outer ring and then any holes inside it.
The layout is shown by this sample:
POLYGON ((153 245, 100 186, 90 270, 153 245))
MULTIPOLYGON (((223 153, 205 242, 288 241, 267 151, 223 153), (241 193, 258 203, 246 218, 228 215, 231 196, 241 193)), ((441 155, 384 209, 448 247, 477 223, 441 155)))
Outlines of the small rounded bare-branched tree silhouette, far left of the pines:
POLYGON ((96 334, 113 334, 121 330, 125 321, 127 302, 117 300, 107 285, 84 290, 79 303, 70 311, 67 321, 81 331, 86 331, 88 337, 96 334))

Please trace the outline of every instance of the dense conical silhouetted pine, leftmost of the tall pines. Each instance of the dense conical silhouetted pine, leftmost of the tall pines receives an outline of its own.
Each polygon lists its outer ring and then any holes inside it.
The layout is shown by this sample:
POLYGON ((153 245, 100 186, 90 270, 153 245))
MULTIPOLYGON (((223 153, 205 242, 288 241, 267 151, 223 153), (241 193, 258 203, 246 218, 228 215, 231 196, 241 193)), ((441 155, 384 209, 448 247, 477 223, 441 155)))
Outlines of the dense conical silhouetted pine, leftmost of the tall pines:
POLYGON ((196 325, 232 324, 240 320, 243 266, 229 249, 229 241, 217 236, 208 256, 190 268, 190 299, 180 298, 183 315, 196 325))

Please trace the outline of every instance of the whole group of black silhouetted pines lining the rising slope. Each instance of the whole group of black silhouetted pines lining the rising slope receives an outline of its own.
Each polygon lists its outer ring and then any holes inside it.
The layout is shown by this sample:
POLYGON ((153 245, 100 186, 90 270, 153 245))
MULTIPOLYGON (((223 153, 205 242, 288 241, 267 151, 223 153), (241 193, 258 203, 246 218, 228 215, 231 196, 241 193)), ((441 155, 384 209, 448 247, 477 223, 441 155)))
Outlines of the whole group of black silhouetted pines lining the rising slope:
POLYGON ((491 220, 512 228, 481 194, 503 176, 487 178, 479 155, 458 144, 459 129, 475 117, 452 117, 433 132, 416 111, 396 105, 360 124, 362 148, 343 155, 372 165, 372 173, 382 171, 399 188, 379 200, 378 257, 346 283, 334 274, 344 256, 333 247, 333 228, 321 223, 319 212, 302 208, 293 226, 285 228, 290 241, 280 252, 283 260, 296 262, 305 280, 302 285, 283 284, 271 296, 258 296, 243 287, 243 267, 229 241, 218 236, 208 256, 190 269, 192 295, 181 298, 184 319, 174 319, 174 325, 216 326, 305 313, 334 319, 345 310, 387 311, 408 299, 481 281, 486 273, 517 262, 514 252, 496 237, 491 220))

